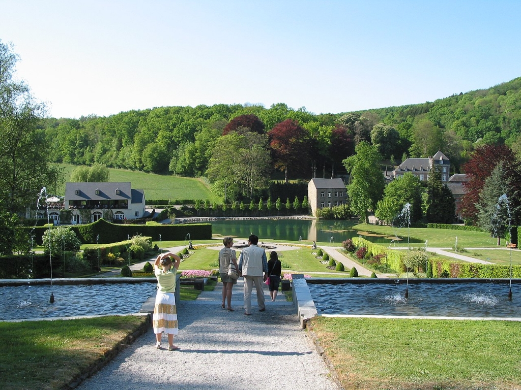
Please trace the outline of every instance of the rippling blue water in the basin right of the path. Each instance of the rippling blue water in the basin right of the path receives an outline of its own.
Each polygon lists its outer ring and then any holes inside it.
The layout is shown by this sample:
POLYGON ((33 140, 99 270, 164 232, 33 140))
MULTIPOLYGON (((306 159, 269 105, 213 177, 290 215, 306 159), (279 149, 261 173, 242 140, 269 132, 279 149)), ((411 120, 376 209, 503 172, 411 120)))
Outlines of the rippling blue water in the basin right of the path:
MULTIPOLYGON (((521 317, 521 299, 509 301, 508 283, 307 283, 318 314, 521 317)), ((512 286, 520 296, 521 284, 512 286)))

